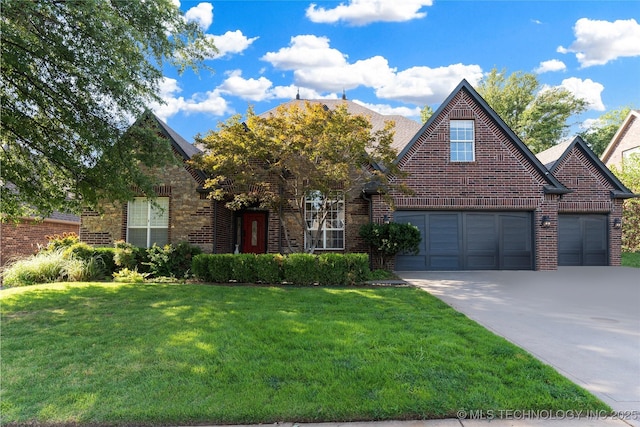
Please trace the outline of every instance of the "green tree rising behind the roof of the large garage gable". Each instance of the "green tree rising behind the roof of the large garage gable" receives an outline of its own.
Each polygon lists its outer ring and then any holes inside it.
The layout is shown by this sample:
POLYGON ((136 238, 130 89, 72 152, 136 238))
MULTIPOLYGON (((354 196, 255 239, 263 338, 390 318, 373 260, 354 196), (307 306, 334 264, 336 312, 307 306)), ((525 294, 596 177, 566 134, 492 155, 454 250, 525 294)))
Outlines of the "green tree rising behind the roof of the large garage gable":
POLYGON ((567 120, 586 110, 587 102, 559 87, 541 87, 532 73, 492 69, 478 93, 533 151, 538 153, 567 136, 567 120))

